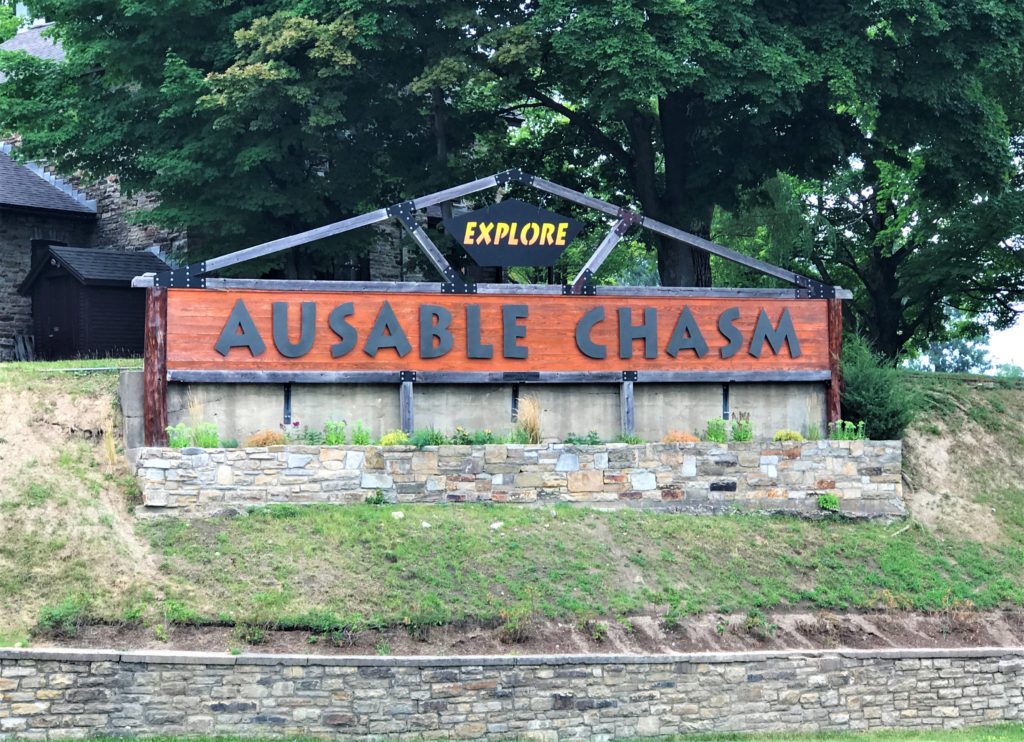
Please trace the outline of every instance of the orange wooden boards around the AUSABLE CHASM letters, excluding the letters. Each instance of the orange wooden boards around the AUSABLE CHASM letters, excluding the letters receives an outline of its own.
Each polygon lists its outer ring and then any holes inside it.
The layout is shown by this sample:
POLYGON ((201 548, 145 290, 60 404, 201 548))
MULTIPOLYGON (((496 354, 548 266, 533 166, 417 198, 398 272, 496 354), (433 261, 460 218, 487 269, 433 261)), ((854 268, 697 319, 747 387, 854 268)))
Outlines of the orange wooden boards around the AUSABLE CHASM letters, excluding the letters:
POLYGON ((279 291, 213 291, 171 289, 168 298, 167 367, 193 370, 417 370, 417 372, 827 372, 828 316, 824 300, 783 300, 762 298, 678 298, 678 297, 580 297, 580 296, 501 296, 501 295, 437 295, 343 292, 279 292, 279 291), (252 356, 248 349, 234 348, 222 356, 215 349, 218 338, 232 307, 244 300, 258 329, 266 350, 252 356), (370 356, 364 345, 383 303, 394 310, 412 344, 412 352, 399 357, 394 349, 380 350, 370 356), (271 307, 274 302, 289 305, 289 330, 293 342, 298 340, 300 306, 303 302, 316 305, 315 340, 311 350, 298 358, 287 358, 274 347, 271 330, 271 307), (333 358, 331 346, 338 337, 328 325, 328 315, 339 304, 353 302, 354 314, 348 321, 358 340, 355 348, 344 356, 333 358), (451 352, 438 358, 422 358, 419 352, 420 305, 444 307, 452 312, 451 331, 454 343, 451 352), (480 308, 480 341, 494 349, 492 358, 469 358, 467 352, 466 306, 480 308), (502 306, 528 308, 521 320, 526 336, 519 340, 527 348, 527 358, 503 357, 502 306), (594 343, 604 345, 604 359, 590 358, 577 346, 575 329, 584 314, 594 307, 604 307, 605 318, 593 328, 594 343), (643 341, 632 344, 633 356, 621 358, 618 353, 618 317, 616 310, 632 310, 633 324, 639 324, 644 309, 652 308, 657 317, 657 342, 654 358, 644 357, 643 341), (666 352, 673 329, 683 307, 688 307, 696 320, 709 352, 696 357, 683 350, 678 357, 666 352), (728 340, 719 332, 719 315, 736 308, 739 317, 735 326, 742 336, 739 351, 722 358, 720 350, 728 340), (788 309, 802 353, 791 356, 783 344, 774 354, 764 344, 760 358, 749 352, 751 337, 760 311, 764 309, 772 324, 777 324, 783 309, 788 309))

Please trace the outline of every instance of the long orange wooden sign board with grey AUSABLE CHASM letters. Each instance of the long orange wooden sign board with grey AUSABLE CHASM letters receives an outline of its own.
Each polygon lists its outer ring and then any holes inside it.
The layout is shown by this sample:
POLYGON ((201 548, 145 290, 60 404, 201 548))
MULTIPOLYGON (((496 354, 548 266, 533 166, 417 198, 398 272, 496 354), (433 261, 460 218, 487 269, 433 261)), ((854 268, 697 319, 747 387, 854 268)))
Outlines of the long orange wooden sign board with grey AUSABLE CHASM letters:
POLYGON ((171 289, 167 369, 827 372, 827 302, 171 289))

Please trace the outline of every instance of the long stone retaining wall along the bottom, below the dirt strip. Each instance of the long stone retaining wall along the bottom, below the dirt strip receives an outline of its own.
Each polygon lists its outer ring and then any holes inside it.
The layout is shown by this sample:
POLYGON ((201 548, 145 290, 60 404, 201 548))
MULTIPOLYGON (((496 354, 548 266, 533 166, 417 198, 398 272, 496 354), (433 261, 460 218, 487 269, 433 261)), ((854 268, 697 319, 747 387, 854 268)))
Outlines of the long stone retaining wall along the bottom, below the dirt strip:
POLYGON ((1024 649, 310 657, 0 650, 0 739, 594 739, 1024 719, 1024 649))

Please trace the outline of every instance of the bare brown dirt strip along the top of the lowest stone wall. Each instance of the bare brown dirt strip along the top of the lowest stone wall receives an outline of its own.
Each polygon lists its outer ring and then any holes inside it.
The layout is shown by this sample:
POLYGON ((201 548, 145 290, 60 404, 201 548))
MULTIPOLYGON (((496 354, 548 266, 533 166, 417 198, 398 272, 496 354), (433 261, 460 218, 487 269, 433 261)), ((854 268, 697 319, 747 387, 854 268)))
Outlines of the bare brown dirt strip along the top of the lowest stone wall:
POLYGON ((87 626, 72 640, 34 646, 249 651, 313 655, 508 655, 508 654, 672 654, 768 649, 874 649, 886 647, 1020 646, 1024 614, 972 612, 962 617, 921 613, 771 613, 751 622, 745 615, 703 615, 672 628, 658 616, 577 624, 534 624, 523 641, 508 643, 500 626, 447 625, 411 634, 403 628, 365 630, 344 637, 309 631, 265 634, 256 645, 241 642, 222 626, 173 626, 166 641, 153 628, 87 626))

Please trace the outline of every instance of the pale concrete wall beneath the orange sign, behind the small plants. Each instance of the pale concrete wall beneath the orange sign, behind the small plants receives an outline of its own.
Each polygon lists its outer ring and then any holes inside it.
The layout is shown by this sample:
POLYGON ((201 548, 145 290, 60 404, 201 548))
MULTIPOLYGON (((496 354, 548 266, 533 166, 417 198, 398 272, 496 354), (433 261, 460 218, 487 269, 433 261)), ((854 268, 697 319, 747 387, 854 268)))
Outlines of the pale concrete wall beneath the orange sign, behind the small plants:
MULTIPOLYGON (((125 372, 121 406, 126 445, 142 445, 141 372, 125 372)), ((821 384, 730 384, 729 407, 745 411, 758 437, 770 438, 780 428, 807 431, 808 423, 824 430, 825 395, 821 384)), ((515 388, 511 384, 414 386, 416 428, 451 434, 489 429, 507 433, 512 427, 515 388)), ((280 384, 170 384, 171 425, 188 421, 189 393, 202 403, 203 417, 216 423, 225 439, 244 441, 258 430, 278 430, 284 420, 285 387, 280 384)), ((375 438, 400 427, 398 386, 378 384, 292 385, 292 420, 319 430, 327 420, 361 421, 375 438)), ((519 398, 535 397, 541 405, 541 430, 546 440, 563 440, 569 433, 597 431, 603 440, 622 430, 617 384, 522 384, 519 398)), ((711 418, 724 408, 721 384, 637 384, 634 389, 636 434, 658 441, 669 431, 700 435, 711 418)))

